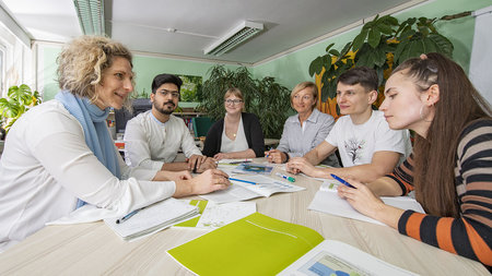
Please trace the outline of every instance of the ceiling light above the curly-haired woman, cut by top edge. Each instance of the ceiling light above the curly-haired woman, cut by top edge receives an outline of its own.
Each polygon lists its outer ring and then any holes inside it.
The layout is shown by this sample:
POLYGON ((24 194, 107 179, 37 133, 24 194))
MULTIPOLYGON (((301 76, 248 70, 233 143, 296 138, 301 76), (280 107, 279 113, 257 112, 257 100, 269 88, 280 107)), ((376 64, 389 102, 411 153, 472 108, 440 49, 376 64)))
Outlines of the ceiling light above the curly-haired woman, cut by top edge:
POLYGON ((104 0, 73 0, 84 35, 104 35, 104 0))

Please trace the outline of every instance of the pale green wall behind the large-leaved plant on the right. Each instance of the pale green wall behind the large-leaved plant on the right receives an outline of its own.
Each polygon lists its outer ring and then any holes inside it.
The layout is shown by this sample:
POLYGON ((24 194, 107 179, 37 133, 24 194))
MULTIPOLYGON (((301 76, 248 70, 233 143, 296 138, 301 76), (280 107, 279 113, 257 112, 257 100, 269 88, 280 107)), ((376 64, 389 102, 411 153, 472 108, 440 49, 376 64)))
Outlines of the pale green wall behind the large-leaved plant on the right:
MULTIPOLYGON (((413 9, 396 14, 398 20, 403 21, 408 17, 441 17, 464 11, 476 11, 492 4, 492 0, 435 0, 420 4, 413 9)), ((442 22, 437 25, 438 31, 448 37, 454 46, 454 60, 458 62, 468 72, 471 45, 473 41, 475 19, 467 16, 459 20, 442 22)), ((341 48, 351 41, 361 31, 361 27, 342 33, 324 41, 317 43, 302 50, 289 53, 273 61, 256 65, 254 76, 262 77, 267 75, 276 76, 277 80, 288 88, 294 87, 297 83, 304 81, 314 81, 309 76, 308 68, 311 61, 325 53, 328 45, 335 43, 333 48, 341 48)))

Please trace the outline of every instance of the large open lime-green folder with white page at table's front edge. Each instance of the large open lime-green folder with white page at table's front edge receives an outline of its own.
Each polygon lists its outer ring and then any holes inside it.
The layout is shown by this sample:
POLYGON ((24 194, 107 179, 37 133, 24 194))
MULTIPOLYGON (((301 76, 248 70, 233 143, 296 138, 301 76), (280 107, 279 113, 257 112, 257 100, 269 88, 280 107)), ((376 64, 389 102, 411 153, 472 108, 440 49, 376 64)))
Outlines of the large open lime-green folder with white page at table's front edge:
POLYGON ((197 275, 412 275, 313 229, 259 213, 167 251, 197 275), (226 257, 225 262, 218 257, 226 257), (332 273, 332 274, 331 274, 332 273), (356 273, 356 274, 355 274, 356 273))

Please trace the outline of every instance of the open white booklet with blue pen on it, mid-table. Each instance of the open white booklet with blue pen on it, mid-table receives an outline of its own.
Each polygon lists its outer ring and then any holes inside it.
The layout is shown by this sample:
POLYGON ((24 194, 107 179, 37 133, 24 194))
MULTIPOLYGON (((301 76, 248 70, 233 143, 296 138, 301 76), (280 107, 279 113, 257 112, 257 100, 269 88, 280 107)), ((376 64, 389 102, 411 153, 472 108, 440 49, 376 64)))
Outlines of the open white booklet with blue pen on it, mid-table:
POLYGON ((231 178, 247 182, 231 180, 233 184, 226 190, 216 191, 200 196, 215 203, 227 203, 246 201, 260 196, 268 197, 271 194, 279 192, 297 192, 305 190, 305 188, 294 185, 288 181, 281 181, 265 176, 233 175, 231 178))

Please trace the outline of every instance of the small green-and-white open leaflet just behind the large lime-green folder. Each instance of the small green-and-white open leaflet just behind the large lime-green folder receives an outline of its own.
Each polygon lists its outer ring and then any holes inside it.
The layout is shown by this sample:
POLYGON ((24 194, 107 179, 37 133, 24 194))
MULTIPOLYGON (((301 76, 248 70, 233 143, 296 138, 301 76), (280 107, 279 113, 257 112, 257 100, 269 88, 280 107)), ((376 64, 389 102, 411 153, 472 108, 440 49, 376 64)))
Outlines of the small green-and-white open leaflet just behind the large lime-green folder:
POLYGON ((216 204, 211 201, 185 201, 200 209, 200 216, 174 225, 173 227, 195 227, 216 229, 256 212, 255 202, 230 202, 216 204))

